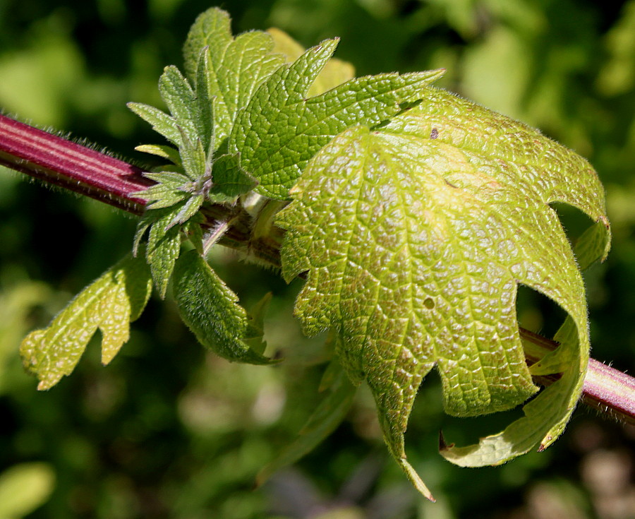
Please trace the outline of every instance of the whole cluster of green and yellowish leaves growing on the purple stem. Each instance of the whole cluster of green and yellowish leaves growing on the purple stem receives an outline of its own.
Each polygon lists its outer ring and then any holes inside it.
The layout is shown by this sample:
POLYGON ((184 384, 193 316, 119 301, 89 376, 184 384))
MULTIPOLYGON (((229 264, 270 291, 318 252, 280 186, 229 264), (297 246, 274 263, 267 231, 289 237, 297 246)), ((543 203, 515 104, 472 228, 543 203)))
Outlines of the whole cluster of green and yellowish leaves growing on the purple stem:
POLYGON ((284 278, 306 276, 296 316, 308 335, 331 330, 335 356, 322 405, 262 479, 328 434, 365 381, 389 451, 432 499, 404 448, 431 369, 456 416, 510 409, 538 391, 532 376, 560 376, 502 433, 444 446, 454 463, 504 463, 562 433, 581 392, 588 323, 576 256, 550 204, 593 220, 579 244, 586 266, 610 240, 603 189, 585 160, 538 131, 430 87, 443 71, 351 78, 331 59, 336 47, 326 40, 302 52, 276 30, 234 37, 224 11, 202 13, 184 47, 185 74, 169 66, 159 79, 167 112, 128 105, 167 140, 138 150, 169 162, 137 193, 147 210, 134 257, 30 334, 23 355, 49 388, 99 328, 109 362, 154 285, 160 297, 172 287, 205 347, 234 362, 272 362, 262 340, 268 299, 248 314, 205 256, 244 215, 259 237, 275 222, 286 230, 284 278), (224 220, 210 223, 212 205, 224 220), (567 312, 560 347, 531 368, 519 284, 567 312))

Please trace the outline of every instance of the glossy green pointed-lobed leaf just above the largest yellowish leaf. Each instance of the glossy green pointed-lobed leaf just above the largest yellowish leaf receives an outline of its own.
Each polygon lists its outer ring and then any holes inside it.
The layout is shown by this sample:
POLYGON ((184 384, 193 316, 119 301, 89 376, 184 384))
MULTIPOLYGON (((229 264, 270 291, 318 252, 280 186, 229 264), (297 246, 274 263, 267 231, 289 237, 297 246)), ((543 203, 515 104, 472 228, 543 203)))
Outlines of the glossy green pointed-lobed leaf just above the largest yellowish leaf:
POLYGON ((443 72, 356 78, 307 99, 337 41, 326 40, 279 68, 238 114, 229 149, 241 153, 241 167, 260 182, 258 193, 285 200, 308 160, 334 136, 353 124, 389 119, 443 72))

